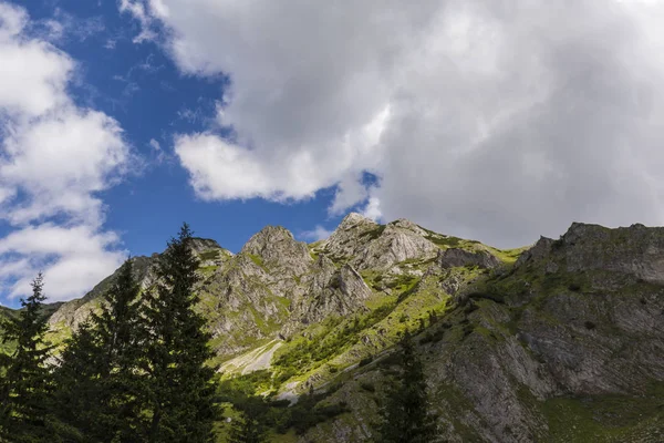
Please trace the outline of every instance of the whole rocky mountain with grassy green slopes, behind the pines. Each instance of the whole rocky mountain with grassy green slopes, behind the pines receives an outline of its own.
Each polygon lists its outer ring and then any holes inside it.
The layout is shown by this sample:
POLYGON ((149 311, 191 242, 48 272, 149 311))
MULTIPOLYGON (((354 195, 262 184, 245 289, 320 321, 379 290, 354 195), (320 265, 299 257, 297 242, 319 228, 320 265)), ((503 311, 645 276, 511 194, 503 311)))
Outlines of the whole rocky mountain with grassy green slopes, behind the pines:
MULTIPOLYGON (((447 441, 664 441, 664 228, 573 224, 499 250, 350 214, 309 245, 268 226, 236 255, 191 248, 222 379, 317 418, 274 441, 369 441, 406 330, 447 441)), ((134 258, 144 290, 157 257, 134 258)), ((58 307, 53 341, 113 278, 58 307)))

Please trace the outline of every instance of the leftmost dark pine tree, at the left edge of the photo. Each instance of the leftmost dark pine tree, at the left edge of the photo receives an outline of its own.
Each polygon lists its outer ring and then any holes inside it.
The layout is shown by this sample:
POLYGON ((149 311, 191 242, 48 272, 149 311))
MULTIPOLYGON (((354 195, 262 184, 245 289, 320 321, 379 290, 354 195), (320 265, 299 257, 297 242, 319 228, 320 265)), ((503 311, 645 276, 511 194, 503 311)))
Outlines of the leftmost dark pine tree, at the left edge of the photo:
POLYGON ((0 441, 49 441, 52 381, 46 365, 51 348, 44 340, 49 328, 42 311, 44 300, 43 277, 39 274, 32 281, 32 295, 21 300, 19 315, 2 326, 2 342, 15 342, 15 350, 2 359, 0 441))

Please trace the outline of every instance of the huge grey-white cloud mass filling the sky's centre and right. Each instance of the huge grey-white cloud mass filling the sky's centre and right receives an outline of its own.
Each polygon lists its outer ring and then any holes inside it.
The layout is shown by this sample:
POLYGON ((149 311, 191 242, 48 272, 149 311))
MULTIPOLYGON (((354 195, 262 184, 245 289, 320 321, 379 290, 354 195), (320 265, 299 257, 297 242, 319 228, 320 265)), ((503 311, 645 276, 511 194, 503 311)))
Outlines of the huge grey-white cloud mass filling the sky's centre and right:
POLYGON ((498 246, 664 222, 661 1, 123 4, 183 72, 230 79, 232 136, 176 137, 204 198, 339 185, 332 213, 498 246))

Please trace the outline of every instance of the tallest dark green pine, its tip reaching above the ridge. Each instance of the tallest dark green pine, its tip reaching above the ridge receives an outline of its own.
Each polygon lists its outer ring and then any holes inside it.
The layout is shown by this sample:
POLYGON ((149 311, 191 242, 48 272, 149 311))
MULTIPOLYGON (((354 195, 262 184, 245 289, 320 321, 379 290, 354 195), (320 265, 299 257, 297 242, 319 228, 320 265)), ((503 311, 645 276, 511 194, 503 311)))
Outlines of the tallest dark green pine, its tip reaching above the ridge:
POLYGON ((212 357, 205 319, 194 310, 198 297, 198 260, 185 224, 159 257, 156 288, 145 295, 145 361, 149 416, 144 441, 152 443, 211 441, 215 405, 212 357))

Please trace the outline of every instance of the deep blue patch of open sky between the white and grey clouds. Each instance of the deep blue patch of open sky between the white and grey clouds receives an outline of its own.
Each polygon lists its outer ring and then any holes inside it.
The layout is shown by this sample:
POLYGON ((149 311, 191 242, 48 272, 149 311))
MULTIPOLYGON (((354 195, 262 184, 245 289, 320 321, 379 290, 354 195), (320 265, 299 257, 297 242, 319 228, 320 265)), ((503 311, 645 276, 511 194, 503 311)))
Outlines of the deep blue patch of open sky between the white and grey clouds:
POLYGON ((318 198, 288 205, 264 200, 204 202, 187 186, 188 174, 173 158, 173 134, 216 130, 211 127, 215 101, 224 93, 225 76, 183 75, 154 42, 135 44, 141 32, 115 1, 29 1, 33 20, 71 14, 74 29, 64 30, 58 47, 80 65, 80 84, 73 96, 83 106, 103 111, 117 120, 135 153, 145 165, 116 186, 102 193, 107 205, 105 226, 122 233, 134 255, 160 251, 183 222, 196 235, 214 238, 238 251, 243 243, 268 224, 283 225, 301 235, 315 225, 333 228, 339 217, 326 208, 333 189, 318 198), (76 23, 92 21, 89 35, 75 35, 76 23), (108 48, 113 44, 112 48, 108 48), (151 146, 157 141, 165 158, 151 146))

